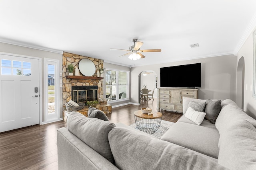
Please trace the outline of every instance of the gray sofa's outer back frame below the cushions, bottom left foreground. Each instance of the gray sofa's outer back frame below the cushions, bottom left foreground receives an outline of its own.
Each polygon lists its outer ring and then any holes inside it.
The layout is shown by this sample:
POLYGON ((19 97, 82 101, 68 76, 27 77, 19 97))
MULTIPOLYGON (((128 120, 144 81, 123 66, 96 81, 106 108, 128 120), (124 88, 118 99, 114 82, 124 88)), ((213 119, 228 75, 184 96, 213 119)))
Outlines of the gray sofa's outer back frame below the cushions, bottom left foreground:
MULTIPOLYGON (((58 168, 49 170, 119 170, 65 127, 57 130, 58 168), (100 160, 100 161, 99 161, 100 160)), ((30 168, 33 169, 33 168, 30 168)))

